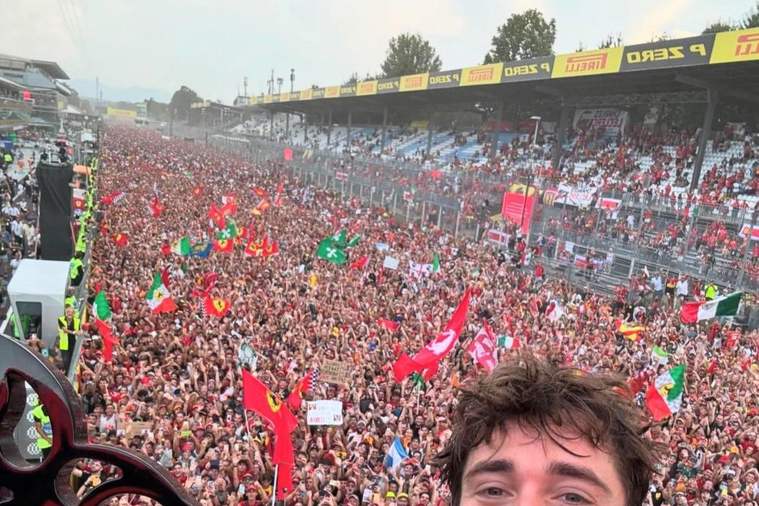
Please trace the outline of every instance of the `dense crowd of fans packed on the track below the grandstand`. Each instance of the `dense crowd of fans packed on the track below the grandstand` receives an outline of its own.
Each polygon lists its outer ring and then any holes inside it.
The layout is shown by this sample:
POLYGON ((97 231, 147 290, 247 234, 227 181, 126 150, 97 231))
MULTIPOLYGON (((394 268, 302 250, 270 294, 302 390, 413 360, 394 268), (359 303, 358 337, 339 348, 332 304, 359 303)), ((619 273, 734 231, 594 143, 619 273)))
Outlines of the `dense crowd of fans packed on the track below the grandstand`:
MULTIPOLYGON (((755 504, 759 333, 722 320, 682 324, 676 307, 703 297, 698 284, 676 280, 678 288, 685 283, 681 296, 656 274, 603 297, 546 277, 540 253, 555 247, 547 234, 528 267, 509 262, 487 241, 434 227, 422 231, 355 197, 341 199, 321 187, 310 187, 304 197, 304 182, 282 162, 256 164, 125 127, 109 127, 103 137, 99 193, 121 190, 124 197, 101 204, 88 289, 90 303, 101 290, 109 297, 120 344, 106 362, 90 325, 77 378, 88 432, 93 442, 155 459, 203 506, 272 498, 272 432, 241 407, 242 342, 257 352, 258 378, 282 398, 323 360, 352 364, 345 383, 317 381, 305 394, 342 401, 343 426, 307 426, 304 408, 296 413, 294 489, 286 504, 446 504, 435 456, 451 433, 457 389, 481 373, 466 349, 483 321, 496 335, 518 340, 504 339, 518 348, 499 347, 499 357, 527 349, 560 366, 616 372, 629 379, 631 402, 641 406, 650 379, 685 363, 682 409, 644 435, 668 448, 657 464, 650 504, 755 504), (273 196, 280 185, 281 205, 251 214, 261 200, 253 190, 273 196), (278 241, 278 254, 246 256, 243 244, 202 259, 162 247, 184 236, 213 239, 209 207, 230 197, 238 202, 231 218, 257 239, 278 241), (165 206, 158 218, 146 210, 156 198, 165 206), (315 258, 319 241, 341 228, 361 234, 346 265, 315 258), (128 244, 117 244, 116 234, 126 235, 128 244), (376 244, 389 250, 380 252, 376 244), (439 272, 410 275, 409 261, 429 263, 434 253, 439 272), (370 256, 365 269, 348 268, 364 255, 370 256), (386 255, 401 260, 399 269, 382 268, 386 255), (161 272, 170 275, 178 309, 153 315, 145 295, 161 272), (218 278, 209 295, 231 300, 219 319, 204 315, 198 296, 209 288, 210 273, 218 278), (466 288, 473 301, 465 330, 436 376, 423 385, 395 382, 395 357, 430 341, 466 288), (642 310, 641 295, 647 301, 642 310), (563 316, 547 318, 556 306, 563 316), (398 322, 398 329, 379 325, 380 318, 398 322), (644 327, 638 341, 616 332, 625 320, 644 327), (653 346, 669 353, 667 365, 652 360, 653 346), (408 459, 387 467, 396 437, 408 459)), ((515 250, 527 250, 518 234, 513 242, 515 250)), ((72 487, 83 495, 115 473, 83 460, 72 487)))

